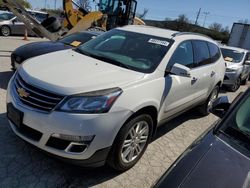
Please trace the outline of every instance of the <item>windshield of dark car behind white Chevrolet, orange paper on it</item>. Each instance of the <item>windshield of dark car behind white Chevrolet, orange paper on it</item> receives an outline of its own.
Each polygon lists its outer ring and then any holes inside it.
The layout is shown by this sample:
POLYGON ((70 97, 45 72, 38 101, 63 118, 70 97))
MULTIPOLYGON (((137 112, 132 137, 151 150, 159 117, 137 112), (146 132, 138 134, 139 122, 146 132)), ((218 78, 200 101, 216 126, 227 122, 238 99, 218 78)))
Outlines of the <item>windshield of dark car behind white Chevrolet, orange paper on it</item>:
POLYGON ((95 37, 96 35, 91 33, 74 33, 60 39, 59 41, 67 45, 79 46, 95 37))

